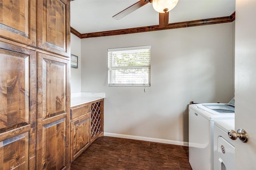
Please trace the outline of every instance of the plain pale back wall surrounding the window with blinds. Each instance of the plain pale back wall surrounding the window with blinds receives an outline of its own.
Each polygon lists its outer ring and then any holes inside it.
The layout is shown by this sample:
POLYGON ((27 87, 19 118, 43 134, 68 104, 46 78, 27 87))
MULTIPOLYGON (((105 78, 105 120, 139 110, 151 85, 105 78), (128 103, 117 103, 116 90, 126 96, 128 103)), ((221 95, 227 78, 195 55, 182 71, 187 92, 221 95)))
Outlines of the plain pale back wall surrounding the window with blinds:
POLYGON ((190 101, 234 97, 232 28, 222 23, 82 39, 81 90, 106 93, 104 131, 188 142, 190 101), (108 48, 140 45, 151 45, 151 86, 146 92, 109 87, 108 48))

